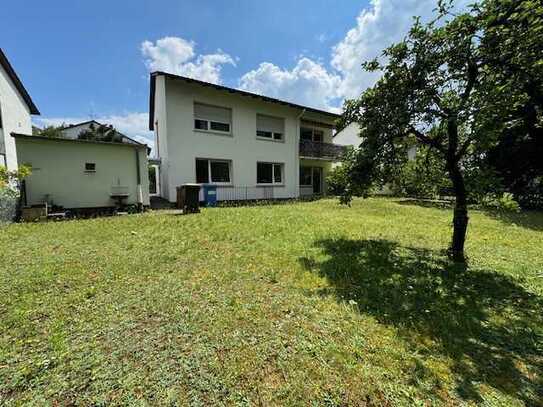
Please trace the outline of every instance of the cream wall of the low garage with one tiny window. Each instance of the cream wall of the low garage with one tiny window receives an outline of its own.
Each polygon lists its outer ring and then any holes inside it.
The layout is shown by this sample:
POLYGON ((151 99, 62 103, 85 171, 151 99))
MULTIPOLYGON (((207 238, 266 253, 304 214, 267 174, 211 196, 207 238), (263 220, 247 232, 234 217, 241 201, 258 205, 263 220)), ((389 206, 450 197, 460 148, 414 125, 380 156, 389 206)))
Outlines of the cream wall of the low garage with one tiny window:
POLYGON ((147 150, 125 144, 98 144, 63 140, 16 138, 19 163, 32 166, 26 179, 27 204, 49 199, 65 208, 114 206, 113 186, 128 187, 128 204, 138 203, 136 151, 139 154, 142 203, 149 205, 147 150), (85 163, 96 172, 85 172, 85 163))

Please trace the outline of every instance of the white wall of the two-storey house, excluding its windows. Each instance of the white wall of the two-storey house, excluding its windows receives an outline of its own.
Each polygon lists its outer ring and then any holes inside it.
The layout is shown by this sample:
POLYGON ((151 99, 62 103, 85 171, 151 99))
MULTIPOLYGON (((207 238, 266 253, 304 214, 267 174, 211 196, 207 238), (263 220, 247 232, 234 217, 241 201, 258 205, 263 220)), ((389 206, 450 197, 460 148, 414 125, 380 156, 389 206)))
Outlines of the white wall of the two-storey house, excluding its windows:
MULTIPOLYGON (((231 160, 232 185, 249 187, 258 187, 257 162, 281 163, 284 165, 283 184, 274 185, 274 198, 299 196, 299 117, 302 110, 160 76, 155 92, 161 195, 164 198, 175 201, 177 186, 196 181, 196 158, 231 160), (165 106, 160 104, 161 97, 165 106), (194 130, 195 102, 232 109, 232 134, 194 130), (258 139, 257 114, 284 118, 284 140, 258 139)), ((318 114, 305 113, 303 117, 333 123, 332 119, 318 114)), ((330 129, 325 132, 324 141, 331 142, 330 129)))

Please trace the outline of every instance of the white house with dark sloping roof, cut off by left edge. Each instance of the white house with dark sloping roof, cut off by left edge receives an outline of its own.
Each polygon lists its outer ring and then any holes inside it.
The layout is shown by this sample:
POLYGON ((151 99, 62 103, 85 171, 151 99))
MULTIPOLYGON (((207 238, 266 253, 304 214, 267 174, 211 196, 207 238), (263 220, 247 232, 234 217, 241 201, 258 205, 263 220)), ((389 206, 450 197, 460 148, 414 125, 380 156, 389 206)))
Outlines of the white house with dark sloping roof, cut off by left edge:
POLYGON ((40 112, 0 48, 0 165, 17 169, 15 140, 10 134, 32 134, 30 115, 40 112))

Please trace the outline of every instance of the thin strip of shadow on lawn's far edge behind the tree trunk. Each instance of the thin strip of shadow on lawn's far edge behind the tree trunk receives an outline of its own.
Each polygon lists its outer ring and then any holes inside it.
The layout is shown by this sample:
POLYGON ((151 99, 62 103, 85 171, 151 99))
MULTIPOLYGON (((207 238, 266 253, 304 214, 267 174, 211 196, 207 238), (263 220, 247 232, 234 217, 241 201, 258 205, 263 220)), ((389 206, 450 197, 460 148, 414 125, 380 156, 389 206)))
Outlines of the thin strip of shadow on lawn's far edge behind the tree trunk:
MULTIPOLYGON (((422 208, 448 209, 451 211, 452 219, 452 209, 454 207, 453 201, 406 198, 396 200, 394 202, 398 205, 419 206, 422 208)), ((522 212, 517 213, 500 211, 491 208, 479 208, 477 210, 507 225, 516 225, 526 229, 543 231, 543 212, 541 211, 523 210, 522 212)))

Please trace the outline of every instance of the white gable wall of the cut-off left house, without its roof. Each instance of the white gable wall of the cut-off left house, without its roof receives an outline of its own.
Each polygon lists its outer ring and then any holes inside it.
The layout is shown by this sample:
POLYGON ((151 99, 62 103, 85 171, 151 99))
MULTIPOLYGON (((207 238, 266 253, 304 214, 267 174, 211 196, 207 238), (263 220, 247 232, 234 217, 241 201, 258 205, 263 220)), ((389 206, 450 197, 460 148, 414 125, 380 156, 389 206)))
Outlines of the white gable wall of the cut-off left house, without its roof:
POLYGON ((0 66, 0 109, 3 124, 0 137, 3 138, 5 145, 7 167, 14 170, 17 168, 17 153, 15 141, 10 134, 12 132, 32 134, 32 122, 27 104, 2 66, 0 66))

